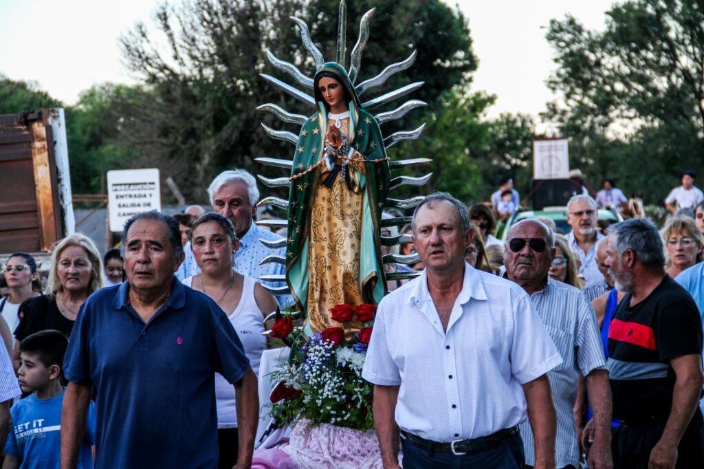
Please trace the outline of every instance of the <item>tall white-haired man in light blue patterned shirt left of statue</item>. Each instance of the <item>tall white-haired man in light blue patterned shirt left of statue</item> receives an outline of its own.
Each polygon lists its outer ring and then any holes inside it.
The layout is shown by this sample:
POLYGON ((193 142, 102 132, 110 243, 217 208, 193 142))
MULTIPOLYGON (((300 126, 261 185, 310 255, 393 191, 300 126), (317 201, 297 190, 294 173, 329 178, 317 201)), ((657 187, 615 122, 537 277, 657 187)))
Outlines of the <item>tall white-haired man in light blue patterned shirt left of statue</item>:
MULTIPOLYGON (((259 201, 259 189, 254 177, 246 170, 227 170, 220 173, 208 187, 210 204, 220 215, 230 218, 239 239, 239 249, 232 255, 234 269, 242 275, 259 282, 262 275, 284 275, 285 266, 279 263, 259 265, 266 256, 286 256, 286 247, 270 249, 259 239, 279 241, 282 237, 264 230, 253 223, 259 201)), ((191 243, 184 246, 186 258, 176 273, 179 280, 197 275, 201 269, 191 250, 191 243)), ((269 282, 260 282, 270 284, 269 282)), ((278 284, 270 284, 279 286, 278 284)), ((283 307, 290 302, 290 296, 278 296, 283 307)))

